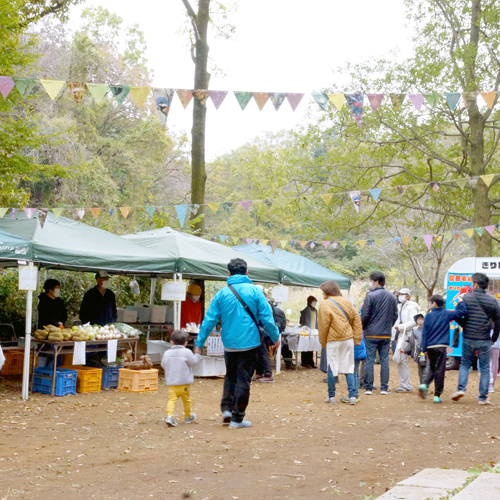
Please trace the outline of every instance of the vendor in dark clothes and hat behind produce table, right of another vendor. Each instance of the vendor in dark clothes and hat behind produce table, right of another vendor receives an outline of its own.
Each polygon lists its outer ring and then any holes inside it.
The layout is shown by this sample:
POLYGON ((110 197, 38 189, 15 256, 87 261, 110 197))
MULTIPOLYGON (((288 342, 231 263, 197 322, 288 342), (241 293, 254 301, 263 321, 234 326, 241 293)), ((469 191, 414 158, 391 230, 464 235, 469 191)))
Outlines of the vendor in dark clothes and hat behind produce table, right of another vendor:
POLYGON ((95 279, 97 285, 83 296, 80 306, 80 320, 83 324, 90 323, 101 326, 116 323, 118 319, 116 297, 109 290, 109 274, 106 271, 98 271, 95 279))

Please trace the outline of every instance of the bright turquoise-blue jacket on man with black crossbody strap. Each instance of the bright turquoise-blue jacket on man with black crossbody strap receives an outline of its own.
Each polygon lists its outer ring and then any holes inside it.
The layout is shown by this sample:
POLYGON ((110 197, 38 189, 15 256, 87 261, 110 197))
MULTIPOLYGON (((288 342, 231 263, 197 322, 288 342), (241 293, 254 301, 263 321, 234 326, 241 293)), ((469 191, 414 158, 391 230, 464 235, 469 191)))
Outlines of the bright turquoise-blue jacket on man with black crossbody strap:
MULTIPOLYGON (((227 283, 233 285, 253 312, 255 319, 260 320, 271 340, 277 342, 279 331, 264 292, 254 286, 248 276, 242 274, 230 276, 227 283)), ((226 287, 217 292, 208 308, 196 340, 197 347, 201 349, 205 345, 207 337, 212 333, 219 319, 222 320, 221 337, 224 347, 252 349, 260 345, 260 334, 255 323, 229 287, 226 287)))

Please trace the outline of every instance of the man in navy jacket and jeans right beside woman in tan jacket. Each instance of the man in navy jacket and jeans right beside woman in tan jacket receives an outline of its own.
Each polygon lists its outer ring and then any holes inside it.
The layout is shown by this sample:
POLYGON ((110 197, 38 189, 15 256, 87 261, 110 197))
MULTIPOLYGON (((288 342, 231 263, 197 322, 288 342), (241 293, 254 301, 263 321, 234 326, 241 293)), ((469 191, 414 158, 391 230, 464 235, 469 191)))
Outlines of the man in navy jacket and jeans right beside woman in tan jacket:
POLYGON ((385 276, 380 271, 370 273, 370 293, 361 309, 363 337, 366 344, 365 394, 373 391, 373 364, 377 351, 380 356, 380 394, 390 394, 389 351, 392 328, 398 319, 396 297, 385 288, 385 276))

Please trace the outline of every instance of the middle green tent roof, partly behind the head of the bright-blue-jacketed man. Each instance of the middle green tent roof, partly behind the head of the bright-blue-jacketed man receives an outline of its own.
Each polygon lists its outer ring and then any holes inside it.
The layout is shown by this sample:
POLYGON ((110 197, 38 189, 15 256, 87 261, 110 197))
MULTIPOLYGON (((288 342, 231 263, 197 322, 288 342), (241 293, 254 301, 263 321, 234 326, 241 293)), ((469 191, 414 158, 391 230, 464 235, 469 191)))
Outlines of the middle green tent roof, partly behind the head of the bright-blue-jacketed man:
MULTIPOLYGON (((228 262, 235 258, 241 259, 241 254, 230 247, 170 227, 128 234, 124 238, 161 253, 166 262, 175 263, 178 273, 191 278, 225 280, 228 262)), ((278 269, 251 257, 246 261, 251 279, 280 282, 278 269)))

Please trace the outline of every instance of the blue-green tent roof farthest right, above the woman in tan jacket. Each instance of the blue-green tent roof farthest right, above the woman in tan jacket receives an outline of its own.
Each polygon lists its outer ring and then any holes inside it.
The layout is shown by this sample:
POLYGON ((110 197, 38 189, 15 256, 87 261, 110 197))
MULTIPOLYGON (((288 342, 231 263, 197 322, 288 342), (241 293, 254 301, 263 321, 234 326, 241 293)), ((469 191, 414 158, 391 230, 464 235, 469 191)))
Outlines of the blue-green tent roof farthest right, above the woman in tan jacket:
POLYGON ((327 269, 306 257, 285 250, 276 249, 274 254, 269 245, 263 247, 252 243, 233 247, 237 252, 252 257, 281 270, 282 283, 285 285, 318 287, 324 281, 335 281, 343 290, 349 290, 351 280, 327 269))

